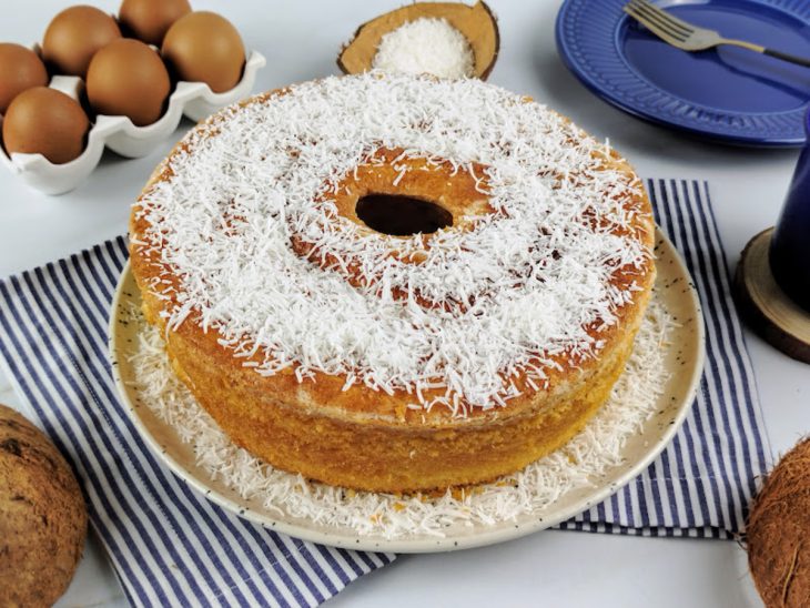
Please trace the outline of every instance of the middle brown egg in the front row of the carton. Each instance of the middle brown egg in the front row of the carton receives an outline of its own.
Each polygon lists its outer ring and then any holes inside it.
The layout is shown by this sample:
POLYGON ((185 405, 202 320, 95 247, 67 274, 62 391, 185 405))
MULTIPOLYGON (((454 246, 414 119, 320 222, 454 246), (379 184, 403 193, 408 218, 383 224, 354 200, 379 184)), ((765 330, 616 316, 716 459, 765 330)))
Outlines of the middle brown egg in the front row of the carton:
POLYGON ((140 40, 122 38, 93 55, 87 87, 90 105, 99 114, 121 114, 144 126, 163 113, 171 81, 158 51, 140 40))

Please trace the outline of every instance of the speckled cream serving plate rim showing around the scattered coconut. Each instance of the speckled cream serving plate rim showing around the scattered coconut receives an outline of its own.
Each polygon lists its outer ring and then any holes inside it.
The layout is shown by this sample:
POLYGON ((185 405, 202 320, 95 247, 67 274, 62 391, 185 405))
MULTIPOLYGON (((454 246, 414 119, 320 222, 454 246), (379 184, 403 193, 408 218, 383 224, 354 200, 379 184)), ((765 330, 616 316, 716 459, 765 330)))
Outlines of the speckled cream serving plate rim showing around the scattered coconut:
POLYGON ((672 330, 672 346, 665 367, 667 385, 656 404, 655 414, 641 432, 629 437, 621 452, 620 466, 563 494, 546 508, 493 525, 458 525, 444 529, 445 536, 408 536, 388 539, 358 535, 346 527, 333 527, 311 519, 280 515, 257 500, 243 499, 220 479, 212 479, 196 463, 193 444, 183 443, 178 432, 161 420, 139 395, 131 357, 138 344, 138 324, 131 323, 133 307, 141 298, 129 264, 115 292, 110 318, 110 353, 115 384, 135 428, 160 459, 180 478, 206 498, 246 519, 313 543, 363 550, 432 553, 465 549, 510 540, 569 519, 616 493, 639 475, 670 442, 680 427, 700 383, 703 367, 703 321, 689 272, 669 240, 656 233, 657 290, 667 311, 680 323, 672 330), (687 320, 687 321, 684 321, 687 320))

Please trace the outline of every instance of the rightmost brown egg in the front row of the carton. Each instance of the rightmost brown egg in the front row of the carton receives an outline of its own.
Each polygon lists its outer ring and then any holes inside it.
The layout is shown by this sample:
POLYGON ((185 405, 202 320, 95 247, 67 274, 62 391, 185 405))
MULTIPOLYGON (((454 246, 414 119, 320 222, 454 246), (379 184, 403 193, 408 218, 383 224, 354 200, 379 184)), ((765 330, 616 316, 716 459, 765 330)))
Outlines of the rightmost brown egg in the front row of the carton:
POLYGON ((191 12, 175 21, 163 39, 162 53, 180 80, 205 82, 214 93, 236 85, 245 61, 236 28, 207 11, 191 12))

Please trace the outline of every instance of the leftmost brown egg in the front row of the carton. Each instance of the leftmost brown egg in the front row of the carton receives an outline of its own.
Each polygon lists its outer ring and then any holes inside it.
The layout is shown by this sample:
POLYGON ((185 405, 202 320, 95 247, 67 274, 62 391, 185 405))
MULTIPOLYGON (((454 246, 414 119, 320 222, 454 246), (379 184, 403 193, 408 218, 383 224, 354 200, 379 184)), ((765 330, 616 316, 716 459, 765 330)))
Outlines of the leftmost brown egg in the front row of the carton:
POLYGON ((40 153, 53 164, 81 155, 90 129, 79 102, 55 89, 34 87, 14 98, 3 118, 6 151, 40 153))

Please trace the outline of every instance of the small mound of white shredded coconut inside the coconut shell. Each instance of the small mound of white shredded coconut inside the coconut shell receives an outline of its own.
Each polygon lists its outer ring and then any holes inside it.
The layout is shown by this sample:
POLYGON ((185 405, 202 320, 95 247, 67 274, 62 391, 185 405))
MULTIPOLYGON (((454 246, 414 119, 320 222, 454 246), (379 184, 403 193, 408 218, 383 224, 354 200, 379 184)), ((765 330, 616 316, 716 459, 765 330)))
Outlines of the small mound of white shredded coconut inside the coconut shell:
POLYGON ((446 19, 423 17, 386 33, 372 67, 386 72, 465 78, 474 73, 475 55, 464 34, 446 19))

